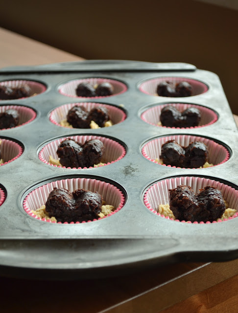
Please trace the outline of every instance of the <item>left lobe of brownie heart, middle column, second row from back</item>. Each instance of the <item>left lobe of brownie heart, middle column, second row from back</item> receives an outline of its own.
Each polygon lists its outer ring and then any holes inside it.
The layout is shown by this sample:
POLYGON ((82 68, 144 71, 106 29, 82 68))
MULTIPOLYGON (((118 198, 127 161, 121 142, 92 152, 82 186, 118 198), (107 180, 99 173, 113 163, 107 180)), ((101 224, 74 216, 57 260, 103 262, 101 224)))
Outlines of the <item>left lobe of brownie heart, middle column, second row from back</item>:
POLYGON ((67 122, 73 128, 90 128, 88 112, 83 106, 75 106, 67 114, 67 122))

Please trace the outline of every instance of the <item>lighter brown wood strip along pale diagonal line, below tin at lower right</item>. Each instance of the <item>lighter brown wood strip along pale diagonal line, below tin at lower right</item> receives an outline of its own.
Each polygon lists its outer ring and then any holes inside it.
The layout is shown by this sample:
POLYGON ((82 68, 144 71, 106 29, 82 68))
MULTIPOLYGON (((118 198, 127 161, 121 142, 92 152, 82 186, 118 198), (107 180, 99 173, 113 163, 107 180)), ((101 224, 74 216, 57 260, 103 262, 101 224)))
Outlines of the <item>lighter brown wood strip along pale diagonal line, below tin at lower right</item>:
POLYGON ((207 263, 100 313, 158 313, 237 274, 238 260, 207 263))

